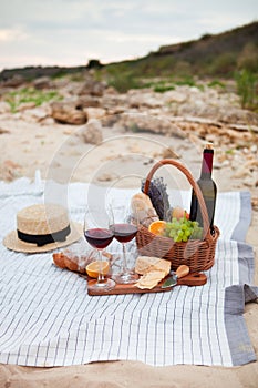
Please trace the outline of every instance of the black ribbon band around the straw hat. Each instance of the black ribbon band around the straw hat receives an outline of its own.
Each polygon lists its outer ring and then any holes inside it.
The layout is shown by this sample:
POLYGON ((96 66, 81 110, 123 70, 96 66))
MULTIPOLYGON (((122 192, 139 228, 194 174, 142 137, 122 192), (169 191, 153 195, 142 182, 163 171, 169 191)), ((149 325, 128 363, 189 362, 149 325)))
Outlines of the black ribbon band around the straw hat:
POLYGON ((20 239, 25 243, 37 244, 38 246, 43 246, 55 242, 64 242, 70 233, 70 225, 68 225, 64 229, 52 234, 28 234, 17 229, 17 234, 20 239))

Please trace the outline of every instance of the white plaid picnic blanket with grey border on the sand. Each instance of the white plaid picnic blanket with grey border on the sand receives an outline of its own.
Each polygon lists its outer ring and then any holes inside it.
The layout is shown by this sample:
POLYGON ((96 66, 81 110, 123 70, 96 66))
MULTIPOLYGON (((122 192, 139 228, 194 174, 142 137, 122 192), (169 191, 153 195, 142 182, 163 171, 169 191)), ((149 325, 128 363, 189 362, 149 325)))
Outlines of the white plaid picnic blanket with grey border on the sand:
MULTIPOLYGON (((96 201, 104 195, 103 188, 94 191, 96 201)), ((135 192, 113 191, 121 217, 135 192)), ((82 193, 89 193, 89 185, 69 186, 70 214, 79 222, 85 208, 82 193)), ((182 192, 180 200, 186 204, 189 193, 182 192)), ((1 241, 16 227, 17 211, 42 201, 39 182, 0 182, 1 241)), ((54 266, 52 252, 27 255, 1 244, 0 363, 50 367, 124 359, 235 366, 255 360, 242 317, 245 302, 258 295, 252 249, 244 242, 250 216, 248 192, 219 193, 215 223, 221 236, 207 284, 168 293, 91 297, 85 279, 54 266)))

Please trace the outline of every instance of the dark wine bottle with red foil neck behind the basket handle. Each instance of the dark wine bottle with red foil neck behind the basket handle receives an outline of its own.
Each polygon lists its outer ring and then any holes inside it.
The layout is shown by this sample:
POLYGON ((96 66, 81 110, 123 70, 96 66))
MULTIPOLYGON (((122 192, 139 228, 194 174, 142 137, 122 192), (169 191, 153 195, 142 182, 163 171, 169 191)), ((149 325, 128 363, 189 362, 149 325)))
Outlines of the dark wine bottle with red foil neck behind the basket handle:
MULTIPOLYGON (((204 201, 207 207, 209 226, 210 226, 211 233, 213 233, 213 226, 214 226, 214 214, 215 214, 216 197, 217 197, 217 186, 211 177, 213 159, 214 159, 213 144, 208 143, 205 145, 205 149, 204 149, 200 177, 198 178, 197 184, 203 193, 204 201)), ((200 212, 200 206, 198 204, 198 200, 194 190, 192 191, 189 218, 190 221, 197 221, 199 225, 203 226, 203 216, 200 212)))

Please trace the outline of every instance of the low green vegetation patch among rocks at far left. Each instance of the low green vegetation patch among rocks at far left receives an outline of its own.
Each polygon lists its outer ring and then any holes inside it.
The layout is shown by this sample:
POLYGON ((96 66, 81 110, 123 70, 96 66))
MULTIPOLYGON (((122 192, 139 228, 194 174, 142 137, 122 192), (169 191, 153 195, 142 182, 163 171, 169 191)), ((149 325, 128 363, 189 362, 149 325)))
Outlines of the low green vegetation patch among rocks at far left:
POLYGON ((4 100, 10 104, 13 113, 22 103, 33 102, 35 106, 40 106, 43 102, 61 99, 56 91, 42 91, 34 88, 23 88, 4 95, 4 100))

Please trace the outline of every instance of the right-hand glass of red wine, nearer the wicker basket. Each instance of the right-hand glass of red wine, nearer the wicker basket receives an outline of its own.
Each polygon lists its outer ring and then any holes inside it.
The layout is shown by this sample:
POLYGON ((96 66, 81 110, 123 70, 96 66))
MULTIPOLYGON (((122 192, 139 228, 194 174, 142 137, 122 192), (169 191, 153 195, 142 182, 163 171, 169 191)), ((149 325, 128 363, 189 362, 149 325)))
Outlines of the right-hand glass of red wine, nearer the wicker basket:
POLYGON ((130 213, 126 213, 125 221, 121 219, 123 218, 118 217, 117 212, 112 207, 110 229, 113 232, 115 239, 122 244, 123 249, 122 270, 120 274, 113 275, 112 277, 118 284, 131 284, 137 282, 138 275, 128 268, 125 244, 136 236, 138 229, 130 222, 130 213))

